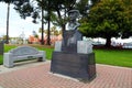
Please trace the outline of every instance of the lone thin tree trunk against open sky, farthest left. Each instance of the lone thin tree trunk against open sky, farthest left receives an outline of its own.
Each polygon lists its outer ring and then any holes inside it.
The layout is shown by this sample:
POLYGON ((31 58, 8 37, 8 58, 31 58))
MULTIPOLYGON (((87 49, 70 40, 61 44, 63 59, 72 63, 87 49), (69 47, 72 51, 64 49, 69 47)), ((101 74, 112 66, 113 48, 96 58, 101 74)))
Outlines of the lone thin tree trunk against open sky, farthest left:
POLYGON ((7 37, 6 37, 7 44, 9 44, 9 16, 10 16, 10 3, 8 3, 8 12, 7 12, 7 37))

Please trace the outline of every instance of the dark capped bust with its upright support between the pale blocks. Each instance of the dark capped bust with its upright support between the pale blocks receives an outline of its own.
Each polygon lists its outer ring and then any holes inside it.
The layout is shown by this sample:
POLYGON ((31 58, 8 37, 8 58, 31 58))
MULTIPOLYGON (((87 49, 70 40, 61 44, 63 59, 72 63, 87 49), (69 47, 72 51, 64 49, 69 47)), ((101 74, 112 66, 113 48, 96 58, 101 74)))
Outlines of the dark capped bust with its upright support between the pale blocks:
POLYGON ((81 33, 78 31, 80 23, 77 22, 80 13, 78 10, 70 10, 68 12, 68 29, 63 33, 62 51, 77 52, 77 41, 81 41, 81 33))

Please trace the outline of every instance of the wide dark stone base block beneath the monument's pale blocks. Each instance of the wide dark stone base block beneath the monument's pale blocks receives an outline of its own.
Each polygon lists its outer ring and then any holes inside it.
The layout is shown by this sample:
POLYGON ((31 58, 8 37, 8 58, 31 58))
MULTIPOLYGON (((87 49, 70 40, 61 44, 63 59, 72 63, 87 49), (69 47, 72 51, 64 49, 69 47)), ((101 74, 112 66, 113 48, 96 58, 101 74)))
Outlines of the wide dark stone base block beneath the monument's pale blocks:
POLYGON ((96 77, 95 53, 53 52, 51 72, 80 80, 91 80, 96 77))

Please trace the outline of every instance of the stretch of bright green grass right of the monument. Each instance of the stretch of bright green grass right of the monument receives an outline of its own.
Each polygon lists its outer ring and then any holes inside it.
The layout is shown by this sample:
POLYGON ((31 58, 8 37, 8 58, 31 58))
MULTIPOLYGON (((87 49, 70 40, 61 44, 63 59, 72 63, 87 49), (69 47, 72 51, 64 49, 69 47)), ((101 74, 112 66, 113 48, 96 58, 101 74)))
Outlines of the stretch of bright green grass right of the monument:
POLYGON ((98 64, 132 67, 132 50, 95 50, 95 53, 98 64))

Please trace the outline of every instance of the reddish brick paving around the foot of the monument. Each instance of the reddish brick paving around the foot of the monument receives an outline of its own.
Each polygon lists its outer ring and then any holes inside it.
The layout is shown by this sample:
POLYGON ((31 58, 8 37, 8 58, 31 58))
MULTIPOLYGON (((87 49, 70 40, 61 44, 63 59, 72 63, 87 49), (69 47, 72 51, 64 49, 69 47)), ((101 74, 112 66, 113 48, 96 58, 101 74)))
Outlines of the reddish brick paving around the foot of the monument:
POLYGON ((0 74, 0 88, 132 88, 132 69, 97 65, 90 82, 77 81, 50 73, 50 63, 0 74))

